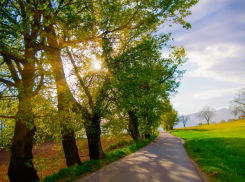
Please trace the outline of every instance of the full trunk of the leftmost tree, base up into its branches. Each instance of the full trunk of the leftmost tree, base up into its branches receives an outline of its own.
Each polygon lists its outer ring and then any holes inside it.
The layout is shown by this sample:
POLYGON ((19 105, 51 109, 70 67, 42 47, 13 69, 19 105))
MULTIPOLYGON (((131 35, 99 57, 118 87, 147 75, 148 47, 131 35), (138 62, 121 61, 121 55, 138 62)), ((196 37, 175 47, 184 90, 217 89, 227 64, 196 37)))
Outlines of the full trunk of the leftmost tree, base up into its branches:
MULTIPOLYGON (((8 176, 11 182, 38 181, 37 171, 33 166, 33 137, 36 132, 34 113, 32 112, 33 85, 35 77, 35 65, 29 63, 27 58, 34 58, 35 52, 29 51, 26 41, 25 60, 22 61, 23 69, 20 71, 21 81, 18 76, 12 76, 18 85, 18 112, 15 116, 14 137, 10 146, 10 165, 8 176)), ((7 57, 5 57, 8 60, 7 57)), ((10 68, 11 69, 11 68, 10 68)), ((12 70, 13 73, 13 70, 12 70)))

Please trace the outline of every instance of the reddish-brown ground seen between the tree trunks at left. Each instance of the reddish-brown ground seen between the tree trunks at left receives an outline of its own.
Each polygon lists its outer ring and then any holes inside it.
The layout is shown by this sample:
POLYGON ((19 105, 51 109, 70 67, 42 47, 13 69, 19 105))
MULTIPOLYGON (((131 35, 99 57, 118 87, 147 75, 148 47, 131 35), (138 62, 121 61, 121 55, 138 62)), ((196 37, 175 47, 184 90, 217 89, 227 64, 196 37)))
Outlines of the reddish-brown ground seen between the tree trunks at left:
MULTIPOLYGON (((124 139, 130 140, 129 136, 123 136, 124 139)), ((117 143, 122 137, 102 138, 102 148, 117 143)), ((89 160, 88 143, 86 139, 77 140, 77 147, 82 162, 89 160)), ((58 172, 61 168, 66 167, 65 156, 62 151, 61 142, 53 141, 44 142, 38 147, 34 145, 32 149, 34 156, 34 167, 38 172, 40 179, 45 176, 58 172)), ((0 182, 8 182, 9 151, 0 151, 0 182)))

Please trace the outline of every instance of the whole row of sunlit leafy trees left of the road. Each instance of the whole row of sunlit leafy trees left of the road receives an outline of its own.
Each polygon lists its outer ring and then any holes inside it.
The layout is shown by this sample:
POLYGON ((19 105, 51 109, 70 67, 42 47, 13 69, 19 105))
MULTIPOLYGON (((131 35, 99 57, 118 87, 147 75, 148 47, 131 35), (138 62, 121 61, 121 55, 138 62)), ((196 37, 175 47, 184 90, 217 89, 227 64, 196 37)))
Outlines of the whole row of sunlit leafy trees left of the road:
MULTIPOLYGON (((0 2, 1 127, 8 129, 11 181, 38 181, 33 139, 62 140, 67 166, 81 164, 75 137, 85 132, 91 159, 101 159, 101 126, 149 137, 174 112, 184 48, 161 57, 170 34, 196 0, 22 0, 0 2), (101 64, 95 69, 95 62, 101 64)), ((1 132, 2 133, 2 132, 1 132)))

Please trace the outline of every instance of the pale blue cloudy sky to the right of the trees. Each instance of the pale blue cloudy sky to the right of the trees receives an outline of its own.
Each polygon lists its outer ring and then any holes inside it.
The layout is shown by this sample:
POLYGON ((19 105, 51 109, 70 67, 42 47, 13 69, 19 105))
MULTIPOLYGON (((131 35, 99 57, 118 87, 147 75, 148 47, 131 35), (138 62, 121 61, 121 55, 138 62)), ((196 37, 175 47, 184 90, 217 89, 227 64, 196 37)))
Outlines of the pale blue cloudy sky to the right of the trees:
POLYGON ((191 11, 186 18, 191 29, 174 25, 160 30, 172 32, 171 45, 183 45, 189 58, 171 101, 179 114, 198 112, 205 105, 228 108, 245 87, 245 1, 200 0, 191 11))

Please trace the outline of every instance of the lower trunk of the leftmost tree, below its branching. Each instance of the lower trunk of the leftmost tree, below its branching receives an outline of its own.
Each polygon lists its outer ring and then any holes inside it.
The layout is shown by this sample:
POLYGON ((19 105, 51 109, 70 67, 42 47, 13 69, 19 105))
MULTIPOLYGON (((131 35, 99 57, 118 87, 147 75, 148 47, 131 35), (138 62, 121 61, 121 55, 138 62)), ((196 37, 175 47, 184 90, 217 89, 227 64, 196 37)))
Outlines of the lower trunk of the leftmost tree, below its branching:
POLYGON ((10 147, 10 165, 8 176, 11 182, 38 181, 37 171, 33 167, 32 147, 36 127, 28 100, 19 99, 19 110, 16 115, 16 124, 12 145, 10 147), (32 128, 28 128, 30 123, 32 128))

